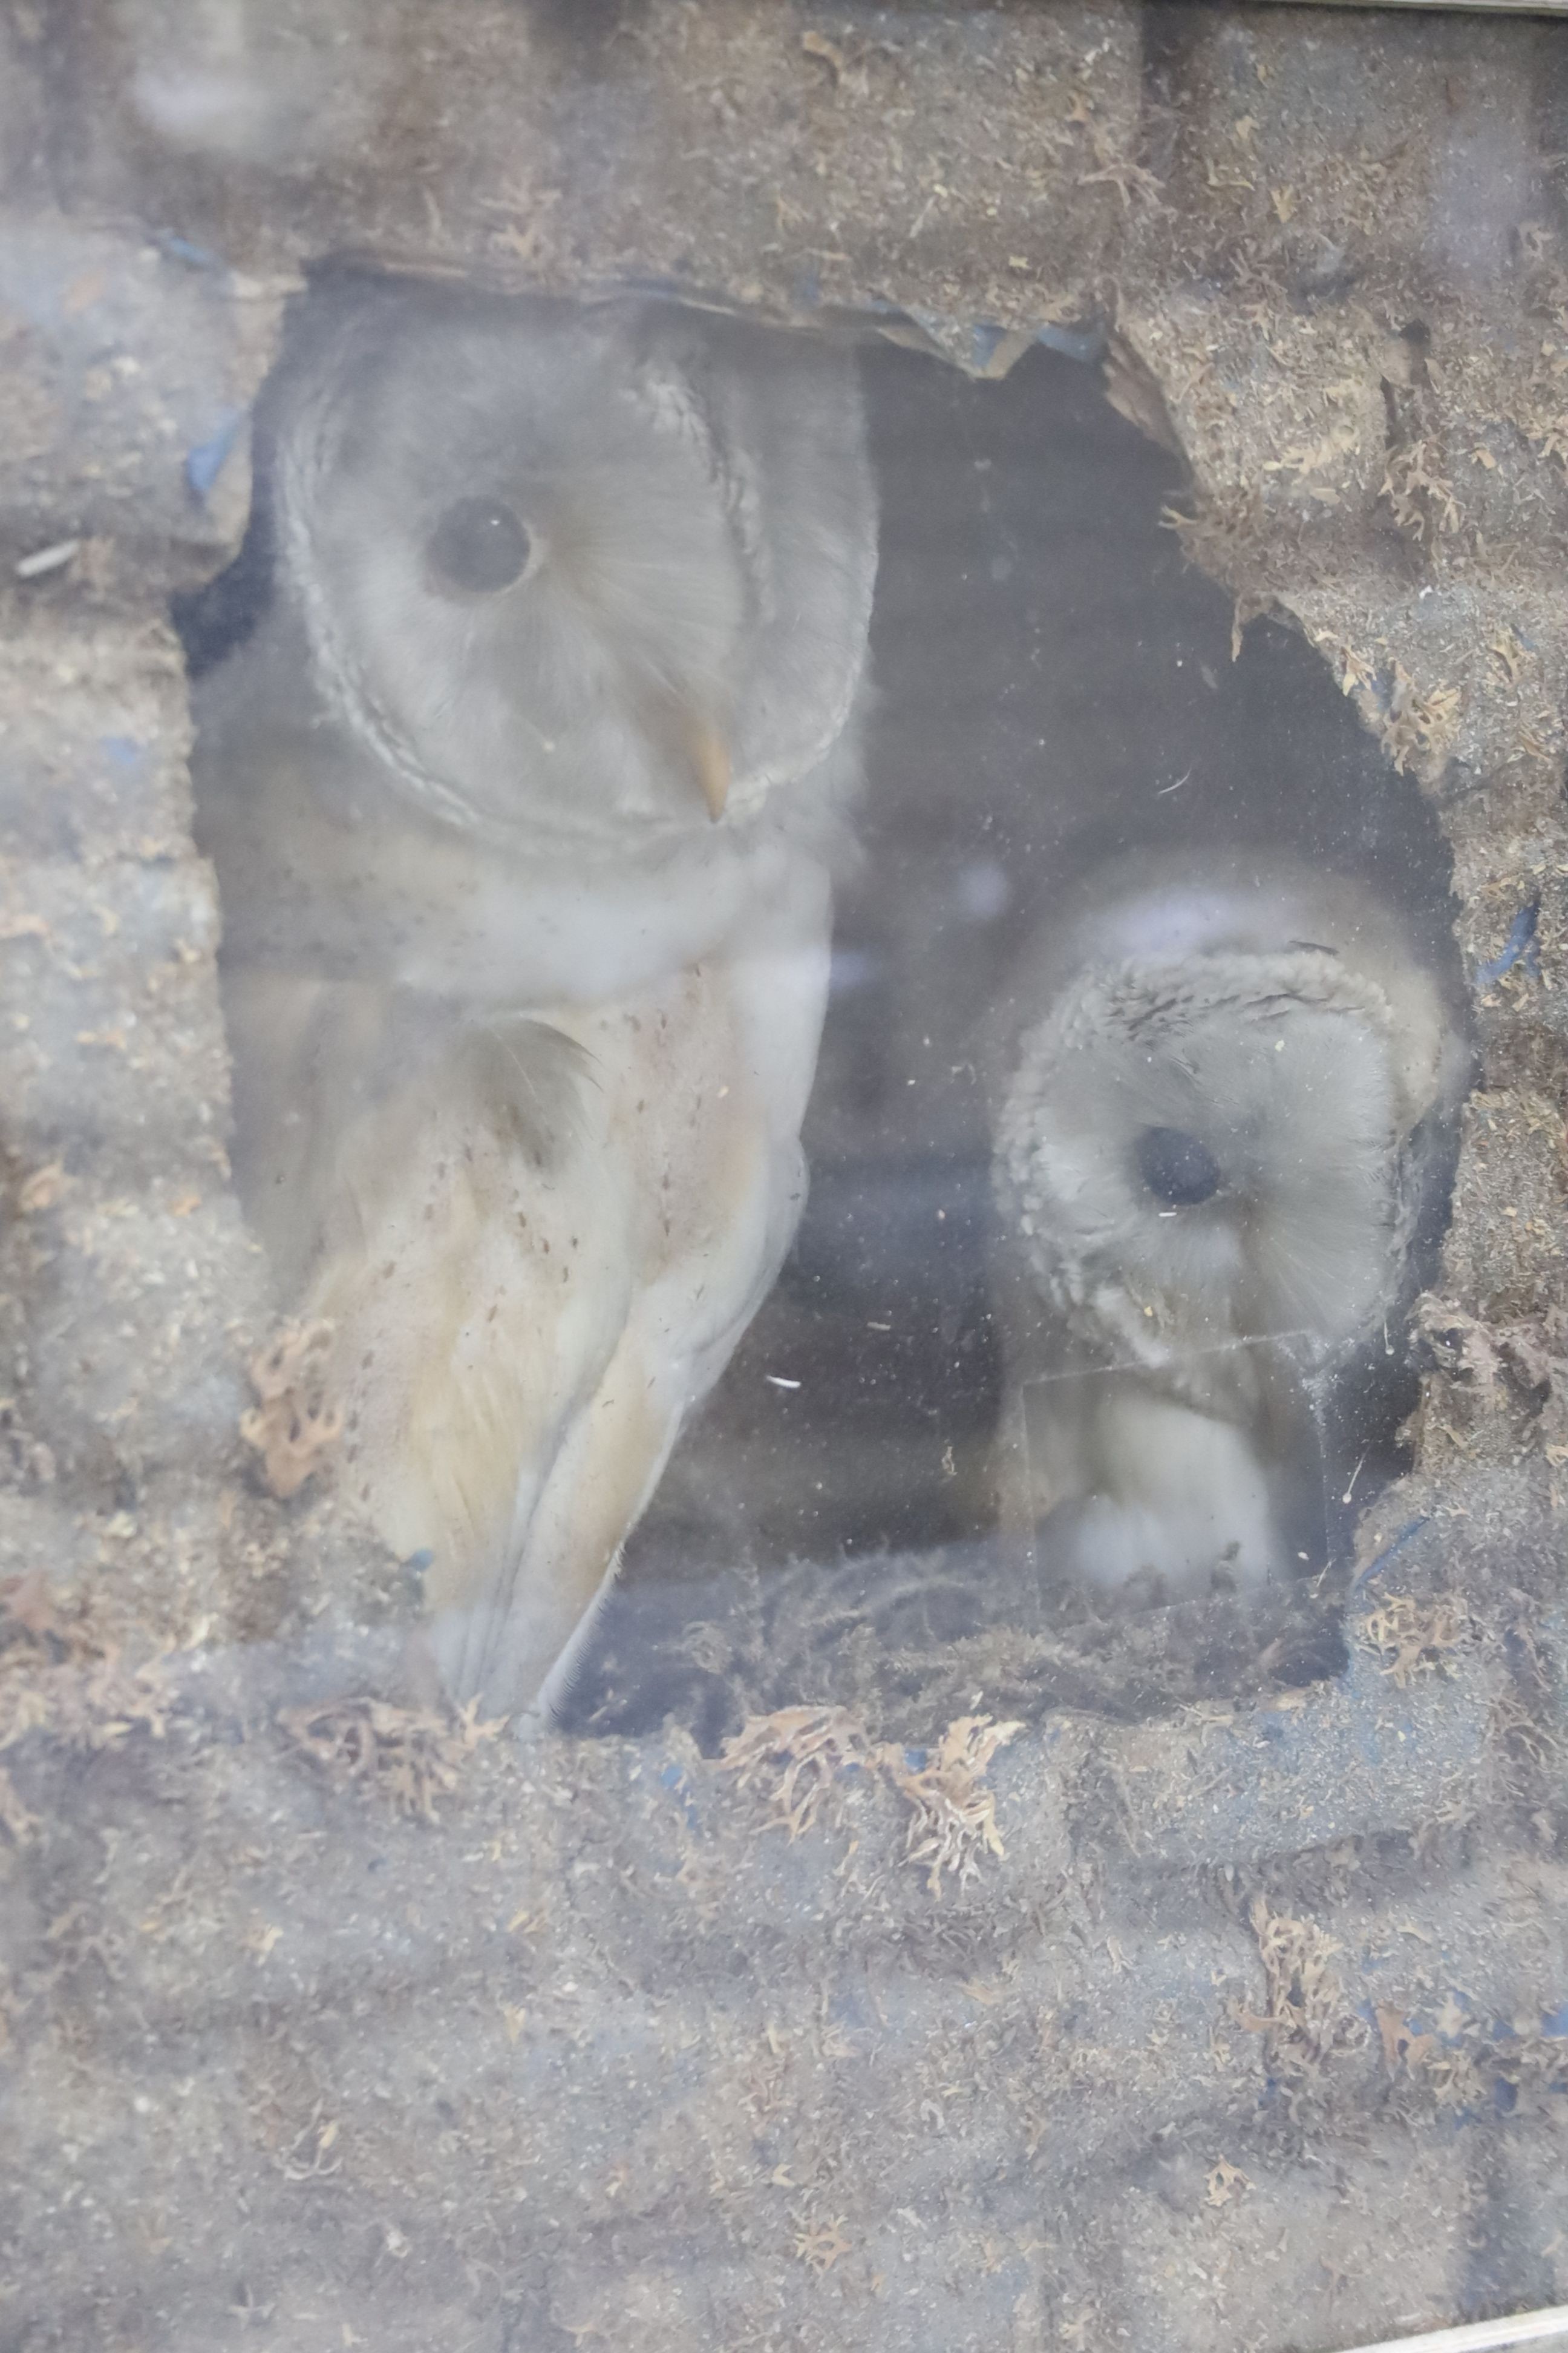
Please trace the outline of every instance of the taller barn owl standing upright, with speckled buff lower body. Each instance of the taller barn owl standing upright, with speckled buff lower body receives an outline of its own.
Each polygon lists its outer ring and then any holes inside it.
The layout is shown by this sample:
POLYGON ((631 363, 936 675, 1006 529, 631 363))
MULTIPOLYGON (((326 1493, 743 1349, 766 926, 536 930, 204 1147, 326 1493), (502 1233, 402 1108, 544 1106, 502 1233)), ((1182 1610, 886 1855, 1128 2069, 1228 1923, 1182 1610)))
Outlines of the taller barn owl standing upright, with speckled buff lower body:
POLYGON ((541 1720, 804 1198, 853 360, 378 282, 259 445, 270 609, 197 685, 235 1176, 449 1692, 541 1720))

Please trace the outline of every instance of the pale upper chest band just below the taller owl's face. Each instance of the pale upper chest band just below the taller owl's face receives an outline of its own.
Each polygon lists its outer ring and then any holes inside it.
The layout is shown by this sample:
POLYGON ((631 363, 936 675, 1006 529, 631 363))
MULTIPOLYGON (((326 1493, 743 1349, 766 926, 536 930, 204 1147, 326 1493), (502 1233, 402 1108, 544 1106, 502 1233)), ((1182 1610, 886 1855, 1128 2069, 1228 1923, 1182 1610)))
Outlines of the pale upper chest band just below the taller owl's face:
POLYGON ((827 920, 851 744, 750 816, 576 852, 508 845, 411 807, 339 722, 280 720, 294 664, 280 628, 197 687, 197 835, 233 967, 468 1005, 595 1005, 731 941, 813 939, 827 920))

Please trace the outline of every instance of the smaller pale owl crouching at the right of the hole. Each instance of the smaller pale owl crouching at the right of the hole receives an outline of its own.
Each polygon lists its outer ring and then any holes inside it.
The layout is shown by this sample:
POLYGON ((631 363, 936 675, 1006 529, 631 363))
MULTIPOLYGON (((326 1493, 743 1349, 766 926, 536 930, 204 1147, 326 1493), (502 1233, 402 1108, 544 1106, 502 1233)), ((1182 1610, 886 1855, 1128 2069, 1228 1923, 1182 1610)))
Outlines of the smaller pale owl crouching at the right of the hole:
POLYGON ((999 1024, 1004 1515, 1100 1593, 1302 1555, 1314 1400, 1406 1289, 1465 1054, 1401 918, 1267 854, 1117 866, 999 1024))

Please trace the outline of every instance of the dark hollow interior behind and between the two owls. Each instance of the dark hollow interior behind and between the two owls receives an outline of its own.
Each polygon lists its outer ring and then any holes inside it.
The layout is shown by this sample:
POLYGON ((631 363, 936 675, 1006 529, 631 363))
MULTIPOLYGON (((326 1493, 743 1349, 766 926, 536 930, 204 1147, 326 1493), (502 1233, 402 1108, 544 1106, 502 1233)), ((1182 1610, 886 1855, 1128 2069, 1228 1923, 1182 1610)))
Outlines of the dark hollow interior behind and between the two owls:
MULTIPOLYGON (((1041 908, 1124 852, 1274 845, 1375 880, 1453 960, 1448 861, 1418 786, 1300 635, 1253 621, 1232 661, 1232 602, 1161 520, 1180 461, 1107 405, 1098 367, 1034 348, 992 384, 884 344, 865 395, 877 701, 811 1198, 628 1546, 574 1689, 581 1727, 675 1706, 712 1729, 712 1694, 691 1689, 719 1654, 733 1666, 710 1628, 733 1617, 736 1579, 773 1657, 797 1638, 811 1657, 813 1612, 832 1649, 889 1612, 903 1624, 914 1593, 912 1640, 1034 1612, 990 1522, 1001 1365, 976 1049, 1041 908)), ((1366 1452, 1361 1508, 1399 1468, 1413 1398, 1396 1351, 1328 1412, 1331 1541, 1354 1518, 1335 1433, 1366 1452)), ((835 1687, 827 1657, 802 1673, 792 1697, 835 1687)))

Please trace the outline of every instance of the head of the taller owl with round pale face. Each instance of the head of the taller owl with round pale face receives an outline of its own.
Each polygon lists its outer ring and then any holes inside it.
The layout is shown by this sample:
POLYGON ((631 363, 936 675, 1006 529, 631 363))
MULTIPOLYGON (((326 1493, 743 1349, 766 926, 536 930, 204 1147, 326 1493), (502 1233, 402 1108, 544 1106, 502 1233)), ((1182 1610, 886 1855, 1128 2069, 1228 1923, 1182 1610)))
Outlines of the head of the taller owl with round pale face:
POLYGON ((284 384, 317 682, 433 816, 618 859, 748 828, 846 727, 875 501, 844 353, 386 287, 284 384))

